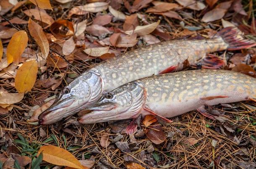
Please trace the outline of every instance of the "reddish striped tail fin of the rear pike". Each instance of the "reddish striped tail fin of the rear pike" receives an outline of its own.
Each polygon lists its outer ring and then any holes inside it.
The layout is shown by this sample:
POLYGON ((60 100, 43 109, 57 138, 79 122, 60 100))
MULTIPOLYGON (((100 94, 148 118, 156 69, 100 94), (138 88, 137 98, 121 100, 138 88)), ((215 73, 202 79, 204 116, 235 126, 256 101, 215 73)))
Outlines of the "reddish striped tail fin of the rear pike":
POLYGON ((221 36, 225 43, 229 45, 227 50, 240 50, 256 46, 254 40, 246 39, 243 33, 236 27, 223 28, 217 35, 221 36))

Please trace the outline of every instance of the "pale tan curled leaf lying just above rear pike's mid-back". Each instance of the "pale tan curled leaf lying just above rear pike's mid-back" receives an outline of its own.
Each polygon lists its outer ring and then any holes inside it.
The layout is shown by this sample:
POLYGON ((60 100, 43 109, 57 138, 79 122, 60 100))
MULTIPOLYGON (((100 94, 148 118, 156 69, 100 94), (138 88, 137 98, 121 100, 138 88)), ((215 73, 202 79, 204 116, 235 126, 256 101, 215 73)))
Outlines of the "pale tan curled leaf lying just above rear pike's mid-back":
POLYGON ((125 31, 125 33, 128 35, 131 35, 132 33, 136 33, 139 36, 147 35, 149 33, 152 33, 155 30, 155 28, 157 28, 159 23, 160 23, 160 20, 158 20, 157 22, 151 23, 149 25, 137 26, 134 31, 128 30, 128 31, 125 31))

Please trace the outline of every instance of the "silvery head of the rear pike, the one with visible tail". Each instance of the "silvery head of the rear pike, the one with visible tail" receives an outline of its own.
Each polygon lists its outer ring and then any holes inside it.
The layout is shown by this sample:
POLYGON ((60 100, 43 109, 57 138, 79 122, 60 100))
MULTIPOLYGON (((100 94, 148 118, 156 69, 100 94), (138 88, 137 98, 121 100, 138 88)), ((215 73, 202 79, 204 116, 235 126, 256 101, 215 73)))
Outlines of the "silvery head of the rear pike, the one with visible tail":
POLYGON ((39 124, 52 124, 91 106, 102 93, 104 81, 99 73, 88 71, 69 83, 55 102, 39 115, 39 124))

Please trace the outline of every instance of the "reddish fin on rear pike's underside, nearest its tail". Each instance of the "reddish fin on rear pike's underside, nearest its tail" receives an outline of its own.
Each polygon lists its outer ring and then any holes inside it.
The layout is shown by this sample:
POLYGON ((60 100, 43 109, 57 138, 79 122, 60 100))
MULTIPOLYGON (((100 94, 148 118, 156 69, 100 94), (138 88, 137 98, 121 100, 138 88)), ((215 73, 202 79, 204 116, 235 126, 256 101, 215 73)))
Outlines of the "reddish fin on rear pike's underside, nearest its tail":
POLYGON ((197 66, 201 64, 201 67, 204 69, 218 69, 225 65, 225 62, 221 60, 219 57, 213 54, 207 54, 203 59, 201 59, 197 66))

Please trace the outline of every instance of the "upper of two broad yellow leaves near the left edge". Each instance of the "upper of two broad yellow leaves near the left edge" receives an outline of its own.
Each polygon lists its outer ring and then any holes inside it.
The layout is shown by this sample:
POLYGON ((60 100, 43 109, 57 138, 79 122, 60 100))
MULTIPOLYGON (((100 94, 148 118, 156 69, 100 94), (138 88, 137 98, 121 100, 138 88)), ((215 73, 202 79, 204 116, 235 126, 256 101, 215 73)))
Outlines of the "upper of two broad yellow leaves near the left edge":
POLYGON ((28 40, 28 35, 24 30, 20 30, 14 33, 7 46, 6 55, 8 64, 12 62, 15 64, 20 63, 21 54, 24 52, 28 40))

